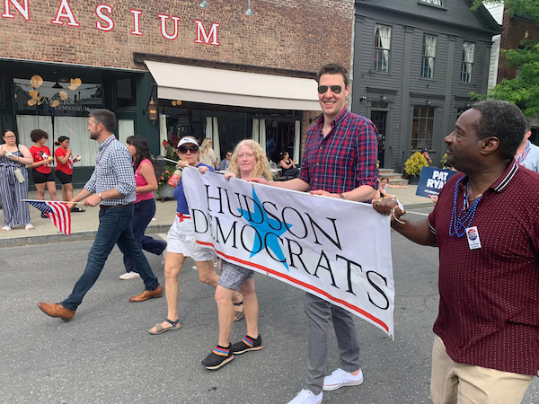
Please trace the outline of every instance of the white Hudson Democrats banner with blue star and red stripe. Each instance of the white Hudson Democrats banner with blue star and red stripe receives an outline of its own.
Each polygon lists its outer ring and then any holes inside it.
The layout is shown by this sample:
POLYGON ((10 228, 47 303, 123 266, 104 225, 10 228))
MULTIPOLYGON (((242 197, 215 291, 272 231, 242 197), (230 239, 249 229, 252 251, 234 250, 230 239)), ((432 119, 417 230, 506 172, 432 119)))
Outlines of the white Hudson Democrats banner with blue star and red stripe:
POLYGON ((393 338, 389 216, 193 168, 183 188, 199 244, 229 262, 296 286, 393 338))

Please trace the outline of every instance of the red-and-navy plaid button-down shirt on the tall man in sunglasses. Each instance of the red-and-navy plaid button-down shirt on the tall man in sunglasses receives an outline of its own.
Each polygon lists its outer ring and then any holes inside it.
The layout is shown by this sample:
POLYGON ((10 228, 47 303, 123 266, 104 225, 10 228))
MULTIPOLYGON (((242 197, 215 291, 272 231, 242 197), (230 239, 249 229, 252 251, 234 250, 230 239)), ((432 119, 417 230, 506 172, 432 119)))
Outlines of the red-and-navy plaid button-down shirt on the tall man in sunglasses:
POLYGON ((361 185, 378 189, 378 131, 364 117, 346 108, 331 122, 323 136, 323 116, 307 132, 300 180, 312 190, 348 192, 361 185))

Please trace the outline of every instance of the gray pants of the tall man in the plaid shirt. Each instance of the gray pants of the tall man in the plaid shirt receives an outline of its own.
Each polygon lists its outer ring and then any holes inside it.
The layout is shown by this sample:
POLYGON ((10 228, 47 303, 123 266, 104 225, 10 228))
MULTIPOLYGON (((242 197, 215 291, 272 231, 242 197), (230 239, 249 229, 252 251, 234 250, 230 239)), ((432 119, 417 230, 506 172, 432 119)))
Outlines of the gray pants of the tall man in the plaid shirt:
POLYGON ((327 373, 331 320, 339 345, 340 368, 346 372, 356 372, 361 367, 358 333, 352 313, 313 294, 305 294, 305 314, 309 318, 309 357, 303 388, 317 395, 327 373))

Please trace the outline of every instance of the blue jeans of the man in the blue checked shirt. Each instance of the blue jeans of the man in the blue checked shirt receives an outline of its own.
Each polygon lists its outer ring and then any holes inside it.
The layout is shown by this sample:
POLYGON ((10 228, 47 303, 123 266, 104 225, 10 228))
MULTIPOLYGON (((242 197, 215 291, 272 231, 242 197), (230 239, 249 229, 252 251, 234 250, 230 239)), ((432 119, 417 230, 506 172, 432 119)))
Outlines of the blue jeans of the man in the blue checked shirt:
POLYGON ((118 244, 119 250, 135 262, 137 272, 142 277, 146 290, 155 290, 159 282, 150 268, 146 256, 135 241, 131 229, 133 205, 101 208, 99 228, 95 234, 93 246, 88 253, 88 263, 82 277, 76 281, 73 292, 61 302, 67 310, 76 310, 86 294, 101 275, 110 251, 118 244))

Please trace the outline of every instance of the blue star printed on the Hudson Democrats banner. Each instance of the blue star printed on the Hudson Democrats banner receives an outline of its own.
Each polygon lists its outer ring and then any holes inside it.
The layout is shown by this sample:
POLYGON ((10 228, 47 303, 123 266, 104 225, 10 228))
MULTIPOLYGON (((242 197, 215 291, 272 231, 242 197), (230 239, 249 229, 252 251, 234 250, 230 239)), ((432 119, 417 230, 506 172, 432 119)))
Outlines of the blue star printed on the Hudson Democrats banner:
MULTIPOLYGON (((260 199, 256 195, 254 188, 252 189, 252 199, 259 205, 262 206, 260 199)), ((281 249, 281 246, 278 242, 278 237, 284 233, 287 233, 287 229, 292 227, 292 224, 280 223, 278 220, 268 217, 264 209, 254 209, 254 212, 238 208, 238 212, 243 215, 243 218, 252 225, 252 227, 260 234, 259 237, 254 238, 254 244, 252 246, 253 251, 249 258, 254 257, 261 250, 264 250, 266 247, 270 249, 277 259, 282 261, 282 264, 287 268, 288 264, 285 260, 285 254, 281 249), (273 226, 273 227, 271 227, 273 226), (278 229, 280 226, 279 230, 278 229)))

